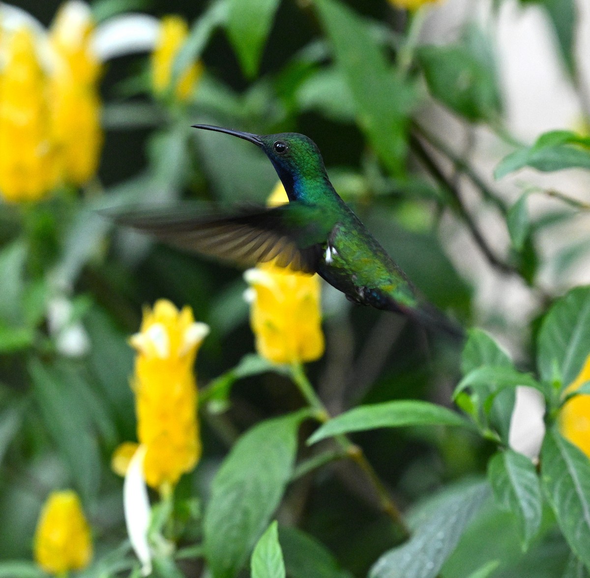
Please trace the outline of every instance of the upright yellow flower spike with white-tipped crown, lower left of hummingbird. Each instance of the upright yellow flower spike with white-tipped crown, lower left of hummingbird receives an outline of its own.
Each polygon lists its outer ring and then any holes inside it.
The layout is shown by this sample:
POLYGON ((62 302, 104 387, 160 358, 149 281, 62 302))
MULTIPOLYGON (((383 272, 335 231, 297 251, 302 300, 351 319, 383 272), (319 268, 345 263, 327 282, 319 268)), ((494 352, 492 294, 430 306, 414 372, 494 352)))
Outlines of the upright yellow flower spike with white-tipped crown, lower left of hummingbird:
MULTIPOLYGON (((178 311, 160 299, 146 308, 140 332, 130 339, 137 351, 132 388, 136 395, 137 438, 145 446, 143 471, 152 488, 167 491, 201 457, 197 389, 193 365, 209 328, 195 323, 192 310, 178 311)), ((113 469, 123 473, 133 453, 123 444, 113 469)))

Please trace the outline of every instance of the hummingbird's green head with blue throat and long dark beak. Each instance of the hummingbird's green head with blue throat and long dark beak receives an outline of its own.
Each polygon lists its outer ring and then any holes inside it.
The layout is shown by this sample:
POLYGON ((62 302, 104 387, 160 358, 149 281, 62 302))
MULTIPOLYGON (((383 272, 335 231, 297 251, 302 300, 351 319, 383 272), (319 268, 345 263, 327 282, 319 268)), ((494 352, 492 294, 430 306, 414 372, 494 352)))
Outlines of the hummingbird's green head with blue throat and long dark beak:
POLYGON ((268 156, 283 181, 290 200, 303 197, 306 193, 304 183, 317 179, 327 180, 326 168, 316 143, 297 132, 281 132, 276 135, 254 135, 211 125, 193 125, 194 128, 215 130, 238 136, 253 142, 268 156))

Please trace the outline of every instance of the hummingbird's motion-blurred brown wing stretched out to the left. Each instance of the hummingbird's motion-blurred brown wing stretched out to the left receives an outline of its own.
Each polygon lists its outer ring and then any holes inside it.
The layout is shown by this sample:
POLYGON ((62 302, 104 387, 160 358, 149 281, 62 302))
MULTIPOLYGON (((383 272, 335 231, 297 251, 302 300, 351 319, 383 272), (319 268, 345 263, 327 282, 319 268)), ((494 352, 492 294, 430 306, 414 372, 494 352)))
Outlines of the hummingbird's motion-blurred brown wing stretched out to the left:
POLYGON ((305 273, 316 271, 321 245, 336 224, 336 215, 328 210, 297 202, 235 215, 207 215, 194 207, 103 214, 179 249, 245 267, 274 259, 280 267, 305 273))

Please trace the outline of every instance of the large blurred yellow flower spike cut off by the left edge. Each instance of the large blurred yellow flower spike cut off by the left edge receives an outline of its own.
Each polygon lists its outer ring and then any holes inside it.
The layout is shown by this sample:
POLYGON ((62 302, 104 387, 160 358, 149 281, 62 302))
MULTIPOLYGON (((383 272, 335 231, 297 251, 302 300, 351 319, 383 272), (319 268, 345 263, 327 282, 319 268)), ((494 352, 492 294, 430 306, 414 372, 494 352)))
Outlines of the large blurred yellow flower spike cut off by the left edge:
POLYGON ((0 196, 36 201, 58 180, 45 74, 28 28, 4 32, 0 71, 0 196))

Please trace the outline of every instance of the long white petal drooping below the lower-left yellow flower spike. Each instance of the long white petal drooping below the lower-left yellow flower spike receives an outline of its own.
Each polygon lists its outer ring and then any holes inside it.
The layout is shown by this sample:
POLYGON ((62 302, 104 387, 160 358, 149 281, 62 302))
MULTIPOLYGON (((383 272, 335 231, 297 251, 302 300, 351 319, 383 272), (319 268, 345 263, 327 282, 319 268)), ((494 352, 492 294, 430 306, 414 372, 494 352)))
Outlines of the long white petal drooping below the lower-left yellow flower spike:
POLYGON ((143 476, 143 459, 146 447, 139 446, 129 462, 123 482, 123 511, 129 541, 133 551, 142 563, 142 575, 152 572, 152 553, 148 543, 148 529, 151 510, 148 488, 143 476))

